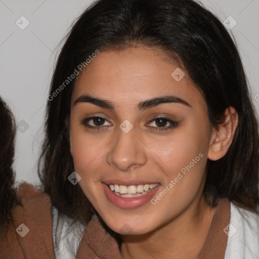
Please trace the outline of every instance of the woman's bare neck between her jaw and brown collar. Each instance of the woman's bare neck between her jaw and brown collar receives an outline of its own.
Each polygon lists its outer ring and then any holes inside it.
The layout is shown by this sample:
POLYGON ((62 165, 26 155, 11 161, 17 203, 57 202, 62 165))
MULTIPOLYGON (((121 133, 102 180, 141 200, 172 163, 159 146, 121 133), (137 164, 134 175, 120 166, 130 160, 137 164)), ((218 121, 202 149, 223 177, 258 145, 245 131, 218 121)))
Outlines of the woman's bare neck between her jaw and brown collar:
POLYGON ((207 237, 215 209, 200 194, 176 218, 145 235, 123 236, 123 259, 195 259, 207 237))

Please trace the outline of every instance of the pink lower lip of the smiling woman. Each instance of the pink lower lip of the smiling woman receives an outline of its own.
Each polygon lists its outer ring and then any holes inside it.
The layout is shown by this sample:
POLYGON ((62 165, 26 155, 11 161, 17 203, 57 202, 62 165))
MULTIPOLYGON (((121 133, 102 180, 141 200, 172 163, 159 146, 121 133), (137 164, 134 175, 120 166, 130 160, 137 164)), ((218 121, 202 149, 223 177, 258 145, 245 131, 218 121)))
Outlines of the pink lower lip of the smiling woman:
POLYGON ((151 200, 151 198, 155 195, 159 187, 158 185, 151 192, 144 194, 140 197, 123 198, 114 194, 108 185, 102 183, 102 186, 104 188, 104 193, 107 199, 119 208, 137 208, 142 206, 143 204, 151 200))

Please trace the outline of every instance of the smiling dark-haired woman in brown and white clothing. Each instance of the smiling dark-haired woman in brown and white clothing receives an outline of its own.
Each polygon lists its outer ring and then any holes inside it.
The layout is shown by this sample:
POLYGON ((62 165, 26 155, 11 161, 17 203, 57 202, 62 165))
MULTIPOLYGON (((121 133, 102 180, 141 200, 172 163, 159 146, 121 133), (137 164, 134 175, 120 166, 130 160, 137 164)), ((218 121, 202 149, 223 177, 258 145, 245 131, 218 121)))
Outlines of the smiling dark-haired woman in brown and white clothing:
POLYGON ((259 256, 257 121, 210 12, 97 1, 65 41, 48 100, 45 194, 20 191, 33 229, 18 236, 21 258, 259 256))

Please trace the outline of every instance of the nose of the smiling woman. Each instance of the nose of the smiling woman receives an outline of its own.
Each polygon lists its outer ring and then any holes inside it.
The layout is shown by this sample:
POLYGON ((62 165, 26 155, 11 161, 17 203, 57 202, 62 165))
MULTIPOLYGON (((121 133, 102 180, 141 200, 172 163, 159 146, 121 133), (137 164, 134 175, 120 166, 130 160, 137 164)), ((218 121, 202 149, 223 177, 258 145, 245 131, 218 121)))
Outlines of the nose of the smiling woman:
POLYGON ((124 133, 120 128, 118 135, 111 143, 107 162, 121 171, 144 165, 147 161, 145 144, 135 135, 135 130, 124 133))

